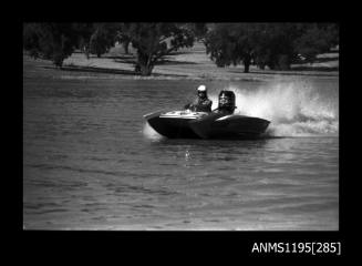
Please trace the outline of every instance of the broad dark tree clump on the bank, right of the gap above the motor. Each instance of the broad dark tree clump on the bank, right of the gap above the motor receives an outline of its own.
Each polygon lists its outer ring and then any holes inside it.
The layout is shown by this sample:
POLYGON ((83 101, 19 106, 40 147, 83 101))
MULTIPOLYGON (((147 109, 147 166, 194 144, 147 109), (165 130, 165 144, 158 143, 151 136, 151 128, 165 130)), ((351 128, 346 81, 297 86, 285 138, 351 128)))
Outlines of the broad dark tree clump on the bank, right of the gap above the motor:
POLYGON ((331 23, 217 23, 207 33, 206 49, 217 66, 251 63, 260 69, 288 70, 300 57, 312 62, 339 42, 331 23))

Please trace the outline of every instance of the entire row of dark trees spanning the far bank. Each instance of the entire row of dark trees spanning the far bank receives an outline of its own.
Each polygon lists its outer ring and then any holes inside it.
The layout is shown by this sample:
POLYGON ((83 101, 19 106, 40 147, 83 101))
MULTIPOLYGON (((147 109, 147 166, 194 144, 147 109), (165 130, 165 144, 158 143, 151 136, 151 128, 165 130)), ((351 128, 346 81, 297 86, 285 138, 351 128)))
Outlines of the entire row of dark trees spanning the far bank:
POLYGON ((307 62, 339 43, 333 23, 25 23, 23 48, 30 55, 62 66, 75 49, 101 57, 116 41, 136 50, 135 71, 149 75, 166 55, 194 41, 204 42, 217 66, 242 63, 286 70, 299 58, 307 62))

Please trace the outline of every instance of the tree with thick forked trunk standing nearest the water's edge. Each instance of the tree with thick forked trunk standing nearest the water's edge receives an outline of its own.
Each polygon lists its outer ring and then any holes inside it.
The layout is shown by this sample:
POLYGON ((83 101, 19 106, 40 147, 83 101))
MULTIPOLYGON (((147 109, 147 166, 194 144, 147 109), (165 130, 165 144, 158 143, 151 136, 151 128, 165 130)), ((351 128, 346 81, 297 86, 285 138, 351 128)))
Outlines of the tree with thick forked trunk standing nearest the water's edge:
POLYGON ((123 23, 121 32, 137 50, 135 70, 151 75, 165 55, 194 44, 193 32, 179 23, 123 23))

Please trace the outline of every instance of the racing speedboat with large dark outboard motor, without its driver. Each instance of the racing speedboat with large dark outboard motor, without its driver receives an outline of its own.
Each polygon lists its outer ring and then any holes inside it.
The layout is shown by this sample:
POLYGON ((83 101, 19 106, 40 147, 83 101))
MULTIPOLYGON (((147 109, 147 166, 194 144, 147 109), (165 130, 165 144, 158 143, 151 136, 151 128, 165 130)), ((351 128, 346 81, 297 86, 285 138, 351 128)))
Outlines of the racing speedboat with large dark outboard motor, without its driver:
POLYGON ((144 117, 157 133, 169 139, 254 139, 265 133, 270 121, 234 114, 235 94, 226 92, 224 94, 231 95, 231 104, 219 104, 218 110, 209 113, 190 110, 158 111, 145 114, 144 117))

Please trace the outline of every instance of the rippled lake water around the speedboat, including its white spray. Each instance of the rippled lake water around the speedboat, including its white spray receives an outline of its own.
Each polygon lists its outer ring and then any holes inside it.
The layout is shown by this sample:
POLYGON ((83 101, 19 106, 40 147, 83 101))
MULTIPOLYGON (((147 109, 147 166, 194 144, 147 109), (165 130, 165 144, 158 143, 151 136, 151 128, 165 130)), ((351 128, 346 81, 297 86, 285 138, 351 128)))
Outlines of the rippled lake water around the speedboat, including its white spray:
POLYGON ((338 78, 23 79, 27 229, 338 229, 338 78), (271 121, 254 141, 167 140, 143 115, 206 84, 271 121))

